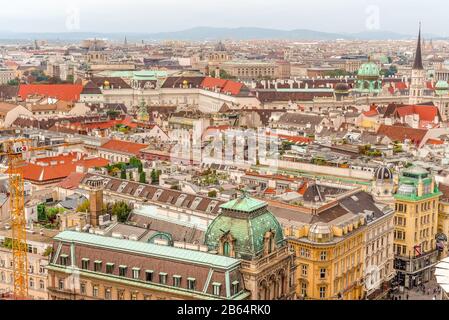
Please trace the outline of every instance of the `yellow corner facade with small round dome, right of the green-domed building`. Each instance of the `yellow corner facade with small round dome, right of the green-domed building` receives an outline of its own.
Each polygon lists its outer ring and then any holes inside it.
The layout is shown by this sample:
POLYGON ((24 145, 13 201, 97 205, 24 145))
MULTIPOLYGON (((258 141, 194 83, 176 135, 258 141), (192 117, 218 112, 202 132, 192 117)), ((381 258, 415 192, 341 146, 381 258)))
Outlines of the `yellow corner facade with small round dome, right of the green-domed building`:
POLYGON ((298 297, 360 300, 363 298, 363 218, 345 227, 313 224, 290 230, 296 253, 298 297))

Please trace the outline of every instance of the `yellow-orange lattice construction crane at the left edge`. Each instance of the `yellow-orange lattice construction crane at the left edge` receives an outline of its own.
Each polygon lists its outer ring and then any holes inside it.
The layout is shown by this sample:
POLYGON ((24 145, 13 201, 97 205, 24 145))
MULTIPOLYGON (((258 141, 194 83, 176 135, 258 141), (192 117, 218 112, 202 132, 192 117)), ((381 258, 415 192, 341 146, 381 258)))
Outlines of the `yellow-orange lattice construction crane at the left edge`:
POLYGON ((0 142, 8 160, 9 201, 12 229, 12 255, 14 298, 28 298, 28 248, 26 242, 25 192, 22 168, 25 165, 23 154, 31 151, 49 150, 55 147, 66 147, 74 144, 59 144, 45 147, 32 147, 30 139, 9 139, 0 142))

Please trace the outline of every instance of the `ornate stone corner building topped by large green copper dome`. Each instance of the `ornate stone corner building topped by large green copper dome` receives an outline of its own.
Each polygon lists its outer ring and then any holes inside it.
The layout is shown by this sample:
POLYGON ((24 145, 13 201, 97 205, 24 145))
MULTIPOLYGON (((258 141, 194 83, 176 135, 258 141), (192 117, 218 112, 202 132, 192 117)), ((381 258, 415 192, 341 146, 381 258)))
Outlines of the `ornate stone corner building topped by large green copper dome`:
POLYGON ((250 299, 294 298, 294 261, 282 228, 267 203, 242 197, 221 206, 205 242, 212 252, 241 259, 250 299))

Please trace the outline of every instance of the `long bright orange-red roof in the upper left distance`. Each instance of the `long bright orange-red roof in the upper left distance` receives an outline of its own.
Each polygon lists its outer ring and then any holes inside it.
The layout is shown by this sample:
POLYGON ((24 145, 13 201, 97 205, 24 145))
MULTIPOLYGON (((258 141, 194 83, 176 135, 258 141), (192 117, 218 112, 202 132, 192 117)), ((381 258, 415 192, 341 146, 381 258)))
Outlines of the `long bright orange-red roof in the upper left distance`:
POLYGON ((78 84, 21 84, 18 96, 26 99, 30 95, 43 95, 63 101, 78 101, 83 86, 78 84))

